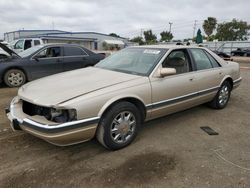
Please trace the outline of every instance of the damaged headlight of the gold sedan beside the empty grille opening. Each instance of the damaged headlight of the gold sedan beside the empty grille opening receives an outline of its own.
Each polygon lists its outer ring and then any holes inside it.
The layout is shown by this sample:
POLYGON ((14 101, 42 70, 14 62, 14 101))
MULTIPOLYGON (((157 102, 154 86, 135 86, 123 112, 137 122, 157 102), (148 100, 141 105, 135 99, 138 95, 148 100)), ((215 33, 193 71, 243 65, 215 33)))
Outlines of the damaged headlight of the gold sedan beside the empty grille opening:
POLYGON ((77 114, 75 109, 55 109, 51 108, 50 120, 57 123, 65 123, 69 121, 74 121, 77 119, 77 114))

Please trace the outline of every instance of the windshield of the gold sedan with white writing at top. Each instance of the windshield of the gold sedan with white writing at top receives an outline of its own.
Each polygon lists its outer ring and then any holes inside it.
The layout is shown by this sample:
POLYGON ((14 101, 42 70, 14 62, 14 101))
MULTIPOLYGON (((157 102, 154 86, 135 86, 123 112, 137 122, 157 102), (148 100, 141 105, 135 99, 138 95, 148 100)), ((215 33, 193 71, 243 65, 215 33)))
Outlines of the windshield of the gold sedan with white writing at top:
POLYGON ((96 67, 137 75, 149 75, 167 49, 126 48, 100 61, 96 67))

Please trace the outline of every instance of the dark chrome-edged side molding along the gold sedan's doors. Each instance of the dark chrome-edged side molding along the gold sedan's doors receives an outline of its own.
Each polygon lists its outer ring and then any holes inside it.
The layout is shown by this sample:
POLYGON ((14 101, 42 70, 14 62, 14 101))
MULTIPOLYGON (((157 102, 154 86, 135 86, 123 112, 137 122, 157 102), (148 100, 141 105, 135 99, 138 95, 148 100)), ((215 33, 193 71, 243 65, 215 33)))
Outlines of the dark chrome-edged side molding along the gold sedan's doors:
POLYGON ((152 104, 147 104, 146 108, 157 108, 159 106, 167 106, 167 105, 175 103, 175 102, 188 100, 188 99, 196 97, 196 96, 200 96, 200 95, 203 95, 203 94, 206 94, 206 93, 217 91, 219 88, 220 88, 220 86, 216 86, 216 87, 212 87, 212 88, 209 88, 209 89, 204 89, 204 90, 201 90, 201 91, 189 93, 187 95, 182 95, 182 96, 179 96, 179 97, 175 97, 175 98, 171 98, 171 99, 167 99, 167 100, 163 100, 163 101, 158 101, 158 102, 155 102, 155 103, 152 103, 152 104))

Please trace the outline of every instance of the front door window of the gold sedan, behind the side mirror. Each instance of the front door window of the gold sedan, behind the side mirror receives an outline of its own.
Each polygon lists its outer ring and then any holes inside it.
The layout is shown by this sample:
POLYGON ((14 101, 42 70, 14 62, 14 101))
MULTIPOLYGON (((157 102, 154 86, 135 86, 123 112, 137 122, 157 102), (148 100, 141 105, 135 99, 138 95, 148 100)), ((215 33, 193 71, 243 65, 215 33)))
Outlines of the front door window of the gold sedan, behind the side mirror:
POLYGON ((186 50, 174 50, 163 61, 162 67, 175 68, 176 74, 190 71, 190 59, 186 50))

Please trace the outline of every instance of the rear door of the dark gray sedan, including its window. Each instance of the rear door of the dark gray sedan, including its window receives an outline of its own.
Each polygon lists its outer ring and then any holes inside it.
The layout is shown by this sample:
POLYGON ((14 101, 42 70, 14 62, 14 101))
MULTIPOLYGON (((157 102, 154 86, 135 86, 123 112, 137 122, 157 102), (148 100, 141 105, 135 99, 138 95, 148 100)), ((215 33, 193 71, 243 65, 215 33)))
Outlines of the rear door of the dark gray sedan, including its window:
POLYGON ((63 70, 70 71, 79 69, 91 64, 89 55, 82 48, 77 46, 64 46, 63 70))

